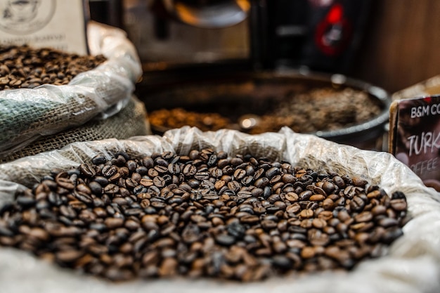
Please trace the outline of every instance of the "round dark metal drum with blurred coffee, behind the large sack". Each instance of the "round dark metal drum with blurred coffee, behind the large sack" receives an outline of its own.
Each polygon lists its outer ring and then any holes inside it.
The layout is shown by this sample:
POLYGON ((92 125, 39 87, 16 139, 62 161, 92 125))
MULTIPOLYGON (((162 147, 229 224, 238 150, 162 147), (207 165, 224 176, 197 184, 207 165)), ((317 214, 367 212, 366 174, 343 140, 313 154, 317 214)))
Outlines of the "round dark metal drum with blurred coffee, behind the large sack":
POLYGON ((208 74, 152 86, 140 95, 155 134, 184 125, 250 134, 290 126, 369 150, 383 150, 391 103, 386 91, 366 82, 297 71, 208 74))

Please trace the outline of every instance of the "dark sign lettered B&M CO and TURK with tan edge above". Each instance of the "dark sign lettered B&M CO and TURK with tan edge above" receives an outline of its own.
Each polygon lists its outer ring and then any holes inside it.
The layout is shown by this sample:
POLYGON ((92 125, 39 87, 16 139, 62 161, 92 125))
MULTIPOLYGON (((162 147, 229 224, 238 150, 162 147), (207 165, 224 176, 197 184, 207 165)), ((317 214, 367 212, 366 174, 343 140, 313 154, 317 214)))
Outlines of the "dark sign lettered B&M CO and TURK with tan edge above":
POLYGON ((389 152, 425 185, 440 191, 440 77, 394 93, 392 98, 389 152))

